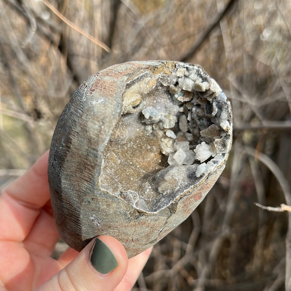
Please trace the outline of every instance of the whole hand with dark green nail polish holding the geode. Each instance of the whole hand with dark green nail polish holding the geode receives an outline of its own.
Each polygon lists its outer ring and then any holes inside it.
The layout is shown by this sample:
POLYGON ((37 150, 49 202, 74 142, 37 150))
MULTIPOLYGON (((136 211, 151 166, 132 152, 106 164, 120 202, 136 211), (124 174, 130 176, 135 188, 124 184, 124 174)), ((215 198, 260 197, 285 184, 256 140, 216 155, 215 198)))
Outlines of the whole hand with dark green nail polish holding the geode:
POLYGON ((0 195, 0 291, 131 290, 151 249, 127 259, 120 242, 99 236, 80 253, 68 248, 59 259, 51 258, 59 234, 50 204, 48 154, 0 195))

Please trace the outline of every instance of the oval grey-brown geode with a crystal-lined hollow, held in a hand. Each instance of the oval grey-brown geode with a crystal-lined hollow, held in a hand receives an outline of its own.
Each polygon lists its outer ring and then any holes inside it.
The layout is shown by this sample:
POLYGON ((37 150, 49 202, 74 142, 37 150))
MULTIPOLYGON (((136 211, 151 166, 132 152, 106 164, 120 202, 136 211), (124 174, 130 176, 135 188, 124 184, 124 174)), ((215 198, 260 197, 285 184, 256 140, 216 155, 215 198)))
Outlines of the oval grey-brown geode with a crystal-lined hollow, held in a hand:
POLYGON ((93 75, 71 97, 51 142, 61 236, 81 250, 111 235, 137 255, 203 200, 231 139, 230 103, 199 65, 130 62, 93 75))

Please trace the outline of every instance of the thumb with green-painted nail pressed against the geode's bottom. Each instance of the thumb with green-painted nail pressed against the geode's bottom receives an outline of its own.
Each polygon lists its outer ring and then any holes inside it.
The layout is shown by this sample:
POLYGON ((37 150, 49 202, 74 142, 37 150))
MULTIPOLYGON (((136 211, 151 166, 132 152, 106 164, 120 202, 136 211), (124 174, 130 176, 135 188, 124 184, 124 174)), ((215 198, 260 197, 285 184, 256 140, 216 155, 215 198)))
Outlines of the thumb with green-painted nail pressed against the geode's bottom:
POLYGON ((127 264, 122 244, 112 237, 99 236, 37 291, 113 291, 125 275, 127 264))

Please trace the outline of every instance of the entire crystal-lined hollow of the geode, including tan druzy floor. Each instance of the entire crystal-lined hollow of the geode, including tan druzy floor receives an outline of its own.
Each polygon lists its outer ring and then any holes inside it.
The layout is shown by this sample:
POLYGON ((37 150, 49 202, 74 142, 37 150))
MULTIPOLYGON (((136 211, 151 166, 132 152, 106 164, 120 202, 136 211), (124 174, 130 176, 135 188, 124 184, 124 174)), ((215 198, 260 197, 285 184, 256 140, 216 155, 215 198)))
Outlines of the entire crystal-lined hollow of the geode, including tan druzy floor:
POLYGON ((102 191, 137 210, 156 212, 225 159, 229 109, 207 89, 208 80, 196 91, 192 79, 176 70, 129 82, 123 113, 103 153, 102 191))

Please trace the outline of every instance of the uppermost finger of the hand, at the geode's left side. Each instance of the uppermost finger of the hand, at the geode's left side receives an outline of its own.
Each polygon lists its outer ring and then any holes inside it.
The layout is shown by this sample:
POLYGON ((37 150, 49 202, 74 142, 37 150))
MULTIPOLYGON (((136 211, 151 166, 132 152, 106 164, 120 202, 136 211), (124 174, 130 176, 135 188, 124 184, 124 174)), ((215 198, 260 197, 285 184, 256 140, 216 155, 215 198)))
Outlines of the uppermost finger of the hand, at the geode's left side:
POLYGON ((0 195, 0 240, 23 241, 49 201, 49 152, 0 195))

